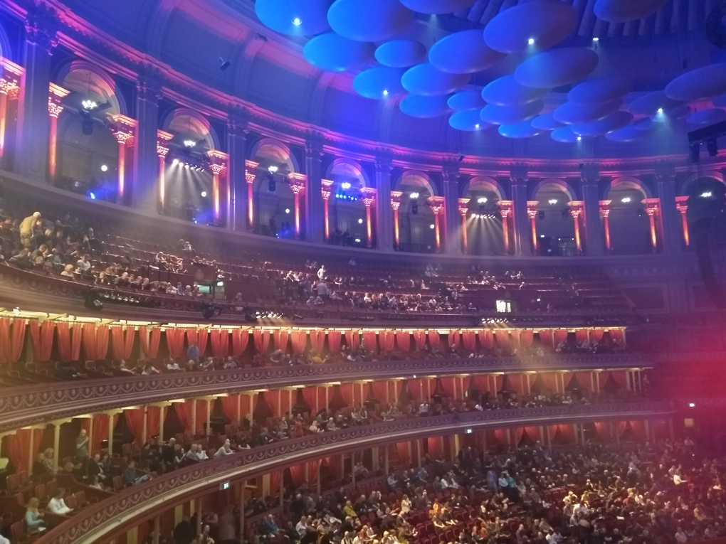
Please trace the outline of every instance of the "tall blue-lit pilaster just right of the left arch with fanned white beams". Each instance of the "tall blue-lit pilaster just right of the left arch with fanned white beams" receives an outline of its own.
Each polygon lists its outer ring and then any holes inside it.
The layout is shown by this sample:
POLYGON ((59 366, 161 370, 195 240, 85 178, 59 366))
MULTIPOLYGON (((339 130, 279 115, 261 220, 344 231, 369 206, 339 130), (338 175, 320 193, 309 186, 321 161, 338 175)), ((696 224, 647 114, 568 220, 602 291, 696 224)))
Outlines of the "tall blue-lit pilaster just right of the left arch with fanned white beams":
POLYGON ((251 205, 245 191, 249 132, 246 112, 234 110, 227 119, 227 228, 230 231, 245 230, 247 207, 251 205))

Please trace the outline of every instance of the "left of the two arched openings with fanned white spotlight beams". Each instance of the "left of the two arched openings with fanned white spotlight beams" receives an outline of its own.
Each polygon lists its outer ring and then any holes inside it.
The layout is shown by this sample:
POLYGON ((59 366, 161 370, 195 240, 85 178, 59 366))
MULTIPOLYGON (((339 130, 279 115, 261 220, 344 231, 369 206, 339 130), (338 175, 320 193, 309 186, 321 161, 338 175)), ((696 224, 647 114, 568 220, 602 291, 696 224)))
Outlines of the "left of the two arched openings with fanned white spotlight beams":
POLYGON ((171 215, 195 223, 213 223, 212 173, 207 152, 216 149, 216 138, 208 120, 190 110, 174 110, 164 123, 164 131, 172 135, 164 173, 171 215))

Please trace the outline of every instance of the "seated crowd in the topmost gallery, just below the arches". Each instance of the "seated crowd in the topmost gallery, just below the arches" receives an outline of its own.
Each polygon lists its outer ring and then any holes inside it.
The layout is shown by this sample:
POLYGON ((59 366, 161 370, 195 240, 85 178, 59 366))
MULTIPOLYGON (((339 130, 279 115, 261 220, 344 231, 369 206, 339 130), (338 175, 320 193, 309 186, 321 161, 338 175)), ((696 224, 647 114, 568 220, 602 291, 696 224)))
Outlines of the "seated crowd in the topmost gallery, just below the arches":
MULTIPOLYGON (((152 297, 155 294, 208 296, 200 294, 192 279, 184 283, 163 281, 158 279, 158 271, 184 273, 189 265, 200 265, 214 267, 215 276, 219 279, 230 279, 237 275, 234 265, 221 265, 214 258, 198 254, 188 240, 166 244, 161 240, 155 241, 155 250, 142 257, 139 254, 143 252, 131 244, 101 242, 97 239, 92 222, 71 218, 69 214, 42 215, 41 212, 35 212, 25 216, 11 205, 0 210, 0 218, 4 220, 0 224, 0 255, 18 268, 39 269, 57 273, 66 279, 114 289, 136 290, 152 297), (113 247, 113 252, 108 251, 107 247, 113 247)), ((104 227, 110 228, 107 225, 104 227)), ((285 256, 280 259, 280 255, 277 255, 275 263, 265 259, 259 262, 256 258, 252 258, 250 264, 260 268, 265 281, 274 281, 275 304, 283 306, 302 304, 309 308, 320 308, 335 304, 356 310, 468 313, 479 309, 482 289, 493 292, 502 290, 502 294, 497 296, 505 297, 507 293, 529 289, 522 271, 490 273, 481 271, 478 265, 472 265, 468 271, 453 268, 444 271, 441 264, 428 264, 418 270, 409 269, 407 277, 402 278, 398 275, 394 277, 391 273, 372 274, 366 266, 351 265, 354 260, 347 261, 347 266, 338 263, 333 267, 335 273, 327 273, 325 265, 318 267, 317 263, 308 268, 302 263, 294 263, 294 266, 288 268, 287 263, 278 262, 289 260, 285 256), (357 272, 348 274, 350 271, 357 272), (467 296, 462 299, 463 294, 467 296)), ((247 265, 248 269, 250 264, 247 265)), ((538 293, 537 287, 532 289, 533 293, 538 293)), ((557 307, 556 303, 550 305, 547 302, 550 296, 550 291, 542 293, 544 302, 538 301, 535 305, 538 310, 557 307)), ((539 295, 536 297, 540 298, 539 295)), ((560 289, 556 297, 560 297, 560 302, 567 299, 576 304, 582 302, 579 297, 573 298, 567 294, 565 289, 560 289)), ((534 297, 529 298, 534 300, 534 297)), ((524 305, 526 300, 522 300, 521 304, 524 305)))

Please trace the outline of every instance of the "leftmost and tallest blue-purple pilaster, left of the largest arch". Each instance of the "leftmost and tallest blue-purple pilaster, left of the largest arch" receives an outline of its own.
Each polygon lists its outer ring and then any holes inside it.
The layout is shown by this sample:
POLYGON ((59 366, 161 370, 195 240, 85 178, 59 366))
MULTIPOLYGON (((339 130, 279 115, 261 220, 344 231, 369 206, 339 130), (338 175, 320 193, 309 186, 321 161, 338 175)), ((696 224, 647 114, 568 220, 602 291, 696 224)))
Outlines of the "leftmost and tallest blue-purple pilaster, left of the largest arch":
POLYGON ((18 107, 18 173, 38 181, 48 175, 50 117, 48 86, 51 57, 57 45, 56 13, 46 4, 31 4, 25 19, 22 62, 25 77, 18 107))

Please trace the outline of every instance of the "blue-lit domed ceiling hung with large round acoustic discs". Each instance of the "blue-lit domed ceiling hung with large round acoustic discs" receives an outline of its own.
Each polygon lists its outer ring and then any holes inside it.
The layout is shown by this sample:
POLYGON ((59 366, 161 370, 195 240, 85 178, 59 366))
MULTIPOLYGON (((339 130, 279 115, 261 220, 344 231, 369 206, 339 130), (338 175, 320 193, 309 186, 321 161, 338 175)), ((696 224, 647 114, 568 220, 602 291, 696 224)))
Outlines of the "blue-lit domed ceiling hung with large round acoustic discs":
POLYGON ((685 154, 686 132, 726 118, 705 0, 166 0, 155 17, 154 2, 130 1, 155 25, 65 4, 200 81, 356 138, 510 157, 685 154), (193 38, 200 28, 213 39, 193 38), (205 57, 229 58, 234 81, 205 57))

